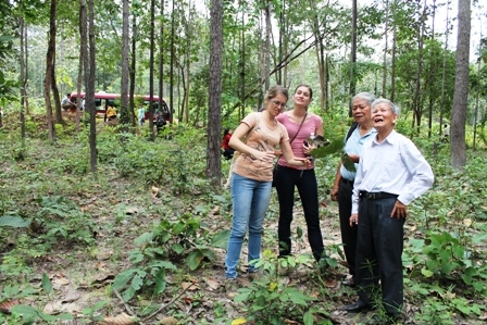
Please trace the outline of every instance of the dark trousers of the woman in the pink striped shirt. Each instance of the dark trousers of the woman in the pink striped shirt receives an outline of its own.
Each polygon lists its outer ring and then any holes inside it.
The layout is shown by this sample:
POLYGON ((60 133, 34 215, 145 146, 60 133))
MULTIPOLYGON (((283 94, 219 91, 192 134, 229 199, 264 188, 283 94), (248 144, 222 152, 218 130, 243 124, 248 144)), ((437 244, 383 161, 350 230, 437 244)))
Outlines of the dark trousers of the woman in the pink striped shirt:
POLYGON ((311 251, 314 259, 320 261, 324 246, 320 228, 317 183, 314 170, 300 171, 278 165, 274 177, 279 199, 279 223, 277 229, 279 255, 289 255, 291 252, 291 222, 296 186, 304 210, 311 251))

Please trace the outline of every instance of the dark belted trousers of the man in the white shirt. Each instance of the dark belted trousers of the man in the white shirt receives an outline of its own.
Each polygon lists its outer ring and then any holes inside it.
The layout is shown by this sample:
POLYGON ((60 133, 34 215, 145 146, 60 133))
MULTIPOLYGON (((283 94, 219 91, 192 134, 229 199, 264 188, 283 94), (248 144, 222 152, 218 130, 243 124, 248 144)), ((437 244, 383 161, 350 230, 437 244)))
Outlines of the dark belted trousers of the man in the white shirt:
POLYGON ((376 304, 374 293, 382 286, 382 303, 389 314, 399 314, 403 304, 402 248, 404 220, 390 217, 396 198, 359 203, 355 282, 361 300, 376 304))

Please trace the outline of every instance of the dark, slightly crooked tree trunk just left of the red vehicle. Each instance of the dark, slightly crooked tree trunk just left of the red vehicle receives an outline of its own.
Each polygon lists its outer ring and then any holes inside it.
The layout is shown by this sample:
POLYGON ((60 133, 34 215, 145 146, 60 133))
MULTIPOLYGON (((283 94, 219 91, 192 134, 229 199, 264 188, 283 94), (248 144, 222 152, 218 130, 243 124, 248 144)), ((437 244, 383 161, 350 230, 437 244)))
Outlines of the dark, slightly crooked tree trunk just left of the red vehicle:
POLYGON ((48 52, 46 54, 46 76, 43 82, 43 91, 45 91, 45 103, 46 103, 46 122, 48 125, 49 140, 55 140, 55 129, 54 129, 54 120, 52 115, 52 105, 51 105, 51 86, 52 86, 52 74, 51 71, 54 65, 54 57, 55 57, 55 1, 51 0, 50 7, 50 17, 49 17, 49 41, 48 41, 48 52))

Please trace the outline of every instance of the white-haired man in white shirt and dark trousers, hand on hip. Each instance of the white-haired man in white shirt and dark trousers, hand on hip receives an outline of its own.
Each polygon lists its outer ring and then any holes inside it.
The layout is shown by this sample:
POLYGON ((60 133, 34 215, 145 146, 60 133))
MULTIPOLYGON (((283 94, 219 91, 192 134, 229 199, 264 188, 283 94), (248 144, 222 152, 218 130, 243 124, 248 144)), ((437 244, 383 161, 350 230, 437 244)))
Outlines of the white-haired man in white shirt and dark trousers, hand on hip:
MULTIPOLYGON (((373 309, 380 280, 388 321, 399 321, 403 304, 402 248, 408 204, 428 190, 432 167, 394 127, 399 108, 387 99, 372 103, 376 137, 363 146, 353 184, 350 225, 358 225, 355 282, 359 300, 349 312, 373 309)), ((380 320, 378 320, 380 321, 380 320)))

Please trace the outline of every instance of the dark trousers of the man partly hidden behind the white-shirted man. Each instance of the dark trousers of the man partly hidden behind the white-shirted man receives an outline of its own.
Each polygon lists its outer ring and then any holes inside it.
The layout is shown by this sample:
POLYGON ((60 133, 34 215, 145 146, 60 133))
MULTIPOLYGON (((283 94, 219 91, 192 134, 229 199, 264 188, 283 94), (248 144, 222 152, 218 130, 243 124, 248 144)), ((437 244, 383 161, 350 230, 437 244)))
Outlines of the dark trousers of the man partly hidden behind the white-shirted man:
POLYGON ((344 243, 345 258, 347 259, 349 273, 355 275, 357 226, 350 227, 352 213, 353 183, 341 179, 338 190, 338 214, 340 216, 341 242, 344 243))

